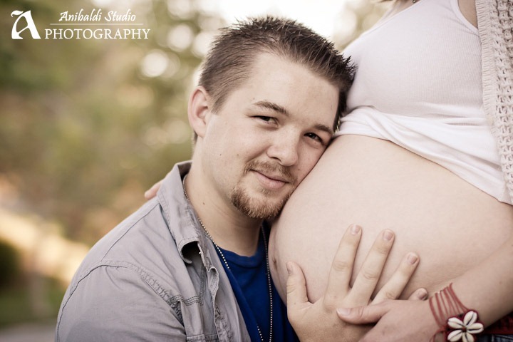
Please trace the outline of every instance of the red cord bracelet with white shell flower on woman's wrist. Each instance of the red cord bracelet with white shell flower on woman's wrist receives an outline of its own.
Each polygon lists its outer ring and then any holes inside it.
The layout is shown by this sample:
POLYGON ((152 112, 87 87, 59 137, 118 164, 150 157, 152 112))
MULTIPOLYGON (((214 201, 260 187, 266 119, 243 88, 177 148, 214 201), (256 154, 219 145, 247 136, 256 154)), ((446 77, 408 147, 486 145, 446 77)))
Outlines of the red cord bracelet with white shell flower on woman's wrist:
POLYGON ((475 342, 475 335, 484 330, 477 311, 462 304, 452 289, 452 283, 432 296, 429 303, 431 313, 440 326, 430 341, 435 341, 435 336, 443 333, 444 341, 475 342))

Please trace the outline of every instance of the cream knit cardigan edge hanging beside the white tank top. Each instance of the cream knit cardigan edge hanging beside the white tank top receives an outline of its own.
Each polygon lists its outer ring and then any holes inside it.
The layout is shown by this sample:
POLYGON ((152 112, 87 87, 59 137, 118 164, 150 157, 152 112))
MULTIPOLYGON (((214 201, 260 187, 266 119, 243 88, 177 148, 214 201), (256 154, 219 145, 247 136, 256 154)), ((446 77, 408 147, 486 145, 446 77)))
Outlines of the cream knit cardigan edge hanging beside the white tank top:
POLYGON ((513 0, 476 0, 483 106, 513 199, 513 0))

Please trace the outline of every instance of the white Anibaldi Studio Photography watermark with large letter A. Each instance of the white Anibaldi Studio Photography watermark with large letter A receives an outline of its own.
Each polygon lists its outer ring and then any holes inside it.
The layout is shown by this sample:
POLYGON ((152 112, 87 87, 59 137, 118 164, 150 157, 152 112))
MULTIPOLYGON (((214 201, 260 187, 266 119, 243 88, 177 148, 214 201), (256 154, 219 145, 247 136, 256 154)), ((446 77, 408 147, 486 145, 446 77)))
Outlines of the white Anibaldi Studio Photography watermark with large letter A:
MULTIPOLYGON (((41 39, 33 23, 31 11, 13 11, 11 16, 18 16, 12 28, 13 39, 23 39, 20 33, 27 28, 33 39, 41 39), (24 18, 27 26, 18 30, 18 21, 24 18)), ((102 9, 93 9, 86 13, 84 9, 71 14, 61 12, 58 22, 44 28, 44 39, 147 39, 150 28, 143 28, 137 16, 128 9, 125 13, 108 11, 103 16, 102 9)))

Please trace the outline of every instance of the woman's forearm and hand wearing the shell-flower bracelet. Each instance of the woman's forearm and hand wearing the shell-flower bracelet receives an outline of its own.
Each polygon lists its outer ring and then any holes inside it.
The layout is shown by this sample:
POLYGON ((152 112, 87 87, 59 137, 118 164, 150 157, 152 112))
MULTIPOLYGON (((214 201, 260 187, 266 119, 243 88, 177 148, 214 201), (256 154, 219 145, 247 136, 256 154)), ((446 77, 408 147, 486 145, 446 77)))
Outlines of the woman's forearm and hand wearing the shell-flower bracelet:
MULTIPOLYGON (((447 262, 450 262, 448 260, 447 262)), ((484 326, 513 311, 513 235, 489 258, 452 279, 452 289, 484 326)), ((447 317, 460 314, 447 313, 447 317)), ((376 323, 361 341, 429 341, 438 330, 427 301, 386 301, 382 304, 339 309, 347 323, 376 323)))

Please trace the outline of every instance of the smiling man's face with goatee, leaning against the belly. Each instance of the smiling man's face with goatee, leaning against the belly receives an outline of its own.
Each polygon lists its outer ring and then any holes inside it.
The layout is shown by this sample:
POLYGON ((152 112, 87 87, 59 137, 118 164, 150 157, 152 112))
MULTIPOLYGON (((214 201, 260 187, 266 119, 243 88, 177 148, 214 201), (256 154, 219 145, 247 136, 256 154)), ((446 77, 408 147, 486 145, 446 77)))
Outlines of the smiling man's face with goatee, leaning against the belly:
POLYGON ((207 115, 203 166, 214 190, 252 218, 276 216, 333 134, 338 89, 263 53, 252 76, 207 115))

